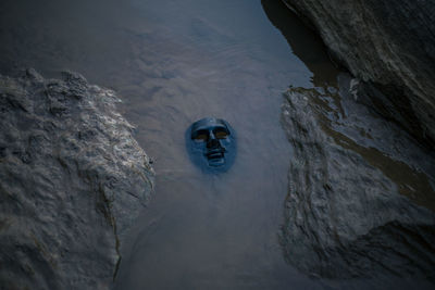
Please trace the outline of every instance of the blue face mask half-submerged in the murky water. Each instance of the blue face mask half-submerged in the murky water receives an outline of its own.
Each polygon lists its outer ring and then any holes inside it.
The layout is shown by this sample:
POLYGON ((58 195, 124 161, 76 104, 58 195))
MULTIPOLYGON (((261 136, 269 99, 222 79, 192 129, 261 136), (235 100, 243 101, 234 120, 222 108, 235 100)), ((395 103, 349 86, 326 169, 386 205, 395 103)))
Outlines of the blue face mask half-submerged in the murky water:
POLYGON ((235 134, 228 123, 214 117, 195 122, 186 131, 192 162, 209 172, 226 172, 236 155, 235 134))

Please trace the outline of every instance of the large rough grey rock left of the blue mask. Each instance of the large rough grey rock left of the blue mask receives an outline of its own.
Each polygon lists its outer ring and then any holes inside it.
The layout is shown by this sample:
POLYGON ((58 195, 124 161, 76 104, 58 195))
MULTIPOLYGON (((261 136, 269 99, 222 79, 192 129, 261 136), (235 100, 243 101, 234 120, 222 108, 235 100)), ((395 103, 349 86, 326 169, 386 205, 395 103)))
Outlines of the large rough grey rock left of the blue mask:
POLYGON ((0 76, 1 289, 108 289, 153 171, 113 91, 0 76))

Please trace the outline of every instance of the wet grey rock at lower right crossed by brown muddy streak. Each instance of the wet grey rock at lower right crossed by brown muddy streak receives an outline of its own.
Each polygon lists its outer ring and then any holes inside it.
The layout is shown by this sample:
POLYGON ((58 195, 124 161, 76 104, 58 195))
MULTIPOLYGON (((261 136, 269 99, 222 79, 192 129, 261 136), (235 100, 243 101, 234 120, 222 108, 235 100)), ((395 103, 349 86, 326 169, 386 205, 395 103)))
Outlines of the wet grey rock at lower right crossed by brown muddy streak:
POLYGON ((365 105, 356 79, 341 74, 338 84, 285 94, 282 124, 293 148, 285 255, 314 277, 430 289, 434 153, 365 105))

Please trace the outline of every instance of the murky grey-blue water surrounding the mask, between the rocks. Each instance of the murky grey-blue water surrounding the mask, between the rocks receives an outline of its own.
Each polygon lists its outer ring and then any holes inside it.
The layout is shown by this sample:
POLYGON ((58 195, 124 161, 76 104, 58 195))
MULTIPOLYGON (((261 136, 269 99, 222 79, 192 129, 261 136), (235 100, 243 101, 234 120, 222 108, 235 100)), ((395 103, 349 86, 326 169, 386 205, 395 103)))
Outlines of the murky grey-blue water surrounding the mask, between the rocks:
POLYGON ((338 71, 279 1, 18 0, 0 11, 1 73, 71 70, 115 89, 154 161, 156 196, 124 232, 116 289, 325 288, 278 243, 291 156, 279 115, 290 84, 327 90, 338 71), (188 159, 184 133, 204 116, 237 131, 227 173, 188 159))

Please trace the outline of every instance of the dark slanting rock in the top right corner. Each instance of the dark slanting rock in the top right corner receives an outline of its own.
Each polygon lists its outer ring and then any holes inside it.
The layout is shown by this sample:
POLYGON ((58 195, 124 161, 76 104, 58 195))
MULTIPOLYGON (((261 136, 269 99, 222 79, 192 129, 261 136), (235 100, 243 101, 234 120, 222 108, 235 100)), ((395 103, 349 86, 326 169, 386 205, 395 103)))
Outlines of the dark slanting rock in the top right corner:
POLYGON ((434 147, 434 1, 283 1, 365 84, 378 112, 434 147))

